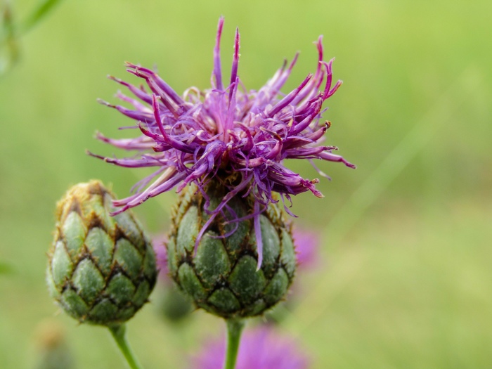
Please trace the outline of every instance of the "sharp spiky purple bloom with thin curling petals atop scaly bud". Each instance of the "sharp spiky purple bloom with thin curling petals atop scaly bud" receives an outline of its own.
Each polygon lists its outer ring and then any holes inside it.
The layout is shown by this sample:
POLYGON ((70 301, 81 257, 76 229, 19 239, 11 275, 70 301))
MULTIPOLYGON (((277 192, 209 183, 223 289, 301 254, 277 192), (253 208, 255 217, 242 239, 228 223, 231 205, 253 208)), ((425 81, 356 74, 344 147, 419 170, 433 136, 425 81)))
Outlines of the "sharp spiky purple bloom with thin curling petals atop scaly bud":
MULTIPOLYGON (((171 188, 181 191, 189 183, 196 183, 205 198, 205 185, 211 180, 221 182, 228 188, 228 194, 214 209, 209 221, 198 235, 198 246, 207 226, 217 214, 224 214, 227 203, 235 195, 250 193, 256 200, 254 225, 261 264, 261 234, 259 215, 271 202, 278 202, 273 193, 279 193, 281 200, 290 202, 291 195, 311 191, 321 198, 315 187, 318 179, 304 179, 283 165, 286 159, 313 159, 343 162, 355 167, 343 157, 332 153, 335 146, 322 145, 323 134, 330 127, 321 122, 322 105, 337 91, 341 81, 332 86, 332 61, 323 60, 321 37, 318 48, 318 67, 290 93, 280 89, 287 81, 296 63, 297 56, 283 66, 258 91, 247 91, 238 77, 239 32, 235 32, 231 77, 224 84, 221 72, 220 39, 224 18, 219 19, 214 47, 214 68, 212 89, 200 91, 190 87, 182 96, 176 93, 155 72, 139 65, 127 63, 127 71, 145 80, 148 89, 134 86, 110 77, 127 87, 134 97, 117 93, 117 97, 133 106, 103 104, 119 110, 136 121, 134 128, 142 135, 137 138, 112 139, 98 134, 105 143, 135 150, 136 155, 123 159, 99 157, 121 167, 157 167, 152 175, 134 186, 136 193, 115 201, 119 207, 115 214, 135 207, 148 198, 153 198, 171 188)), ((286 211, 291 214, 289 209, 286 211)))

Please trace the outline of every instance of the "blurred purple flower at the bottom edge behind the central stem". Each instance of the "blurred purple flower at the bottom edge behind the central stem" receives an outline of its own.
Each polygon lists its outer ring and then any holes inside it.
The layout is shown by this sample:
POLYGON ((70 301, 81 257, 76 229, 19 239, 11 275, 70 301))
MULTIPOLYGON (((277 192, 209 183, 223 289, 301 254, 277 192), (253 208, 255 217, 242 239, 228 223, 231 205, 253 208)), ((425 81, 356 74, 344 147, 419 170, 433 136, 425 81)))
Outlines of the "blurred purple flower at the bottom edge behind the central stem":
MULTIPOLYGON (((218 369, 224 366, 224 339, 207 342, 192 358, 193 369, 218 369)), ((289 337, 271 327, 246 330, 240 342, 236 369, 307 369, 309 359, 289 337)))

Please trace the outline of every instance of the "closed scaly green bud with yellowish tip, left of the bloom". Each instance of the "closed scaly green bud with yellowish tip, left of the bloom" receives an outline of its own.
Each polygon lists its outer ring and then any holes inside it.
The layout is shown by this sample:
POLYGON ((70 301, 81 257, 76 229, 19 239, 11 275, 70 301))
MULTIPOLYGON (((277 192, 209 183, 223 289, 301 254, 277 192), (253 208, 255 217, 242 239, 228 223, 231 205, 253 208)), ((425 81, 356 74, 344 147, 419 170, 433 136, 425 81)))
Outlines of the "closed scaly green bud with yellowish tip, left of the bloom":
POLYGON ((101 182, 79 183, 58 202, 46 280, 56 303, 79 322, 129 320, 157 278, 149 238, 130 212, 110 215, 101 182))

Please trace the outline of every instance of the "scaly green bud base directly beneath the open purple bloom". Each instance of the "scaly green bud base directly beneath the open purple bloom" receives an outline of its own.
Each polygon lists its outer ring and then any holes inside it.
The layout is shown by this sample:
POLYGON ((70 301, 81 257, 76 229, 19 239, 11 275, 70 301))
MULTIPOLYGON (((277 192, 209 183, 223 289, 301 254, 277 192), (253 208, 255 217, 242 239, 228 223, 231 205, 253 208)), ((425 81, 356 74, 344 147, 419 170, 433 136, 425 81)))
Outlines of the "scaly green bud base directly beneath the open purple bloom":
POLYGON ((196 186, 181 191, 167 245, 169 273, 198 307, 210 313, 224 318, 257 316, 283 299, 292 283, 296 257, 290 226, 276 204, 256 215, 263 241, 259 266, 255 200, 237 195, 216 214, 195 253, 202 227, 226 193, 216 180, 207 187, 206 197, 196 186))

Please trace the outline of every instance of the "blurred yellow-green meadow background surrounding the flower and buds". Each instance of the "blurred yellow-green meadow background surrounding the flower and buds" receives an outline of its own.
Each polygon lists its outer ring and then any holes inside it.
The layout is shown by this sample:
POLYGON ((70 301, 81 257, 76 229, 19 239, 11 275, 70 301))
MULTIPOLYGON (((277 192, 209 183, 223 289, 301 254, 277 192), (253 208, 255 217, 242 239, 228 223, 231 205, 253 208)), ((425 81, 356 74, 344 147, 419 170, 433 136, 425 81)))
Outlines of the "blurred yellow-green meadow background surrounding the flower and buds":
MULTIPOLYGON (((36 1, 11 3, 25 18, 36 1)), ((319 184, 325 198, 294 198, 299 223, 323 236, 323 262, 301 277, 282 329, 313 369, 492 368, 491 12, 486 0, 62 1, 18 40, 20 62, 0 79, 0 367, 33 368, 47 318, 63 326, 77 368, 123 367, 108 332, 55 316, 44 286, 54 205, 94 178, 123 197, 145 173, 84 154, 111 155, 94 133, 122 136, 130 123, 96 103, 116 101, 106 75, 136 82, 129 60, 157 65, 176 91, 207 88, 225 15, 224 69, 239 26, 248 89, 296 51, 284 91, 299 84, 316 68, 319 34, 344 80, 327 102, 328 144, 358 169, 321 163, 333 178, 319 184)), ((306 163, 292 168, 316 176, 306 163)), ((136 213, 165 231, 175 198, 136 213)), ((178 369, 222 329, 200 311, 170 325, 155 304, 128 327, 146 368, 178 369)))

